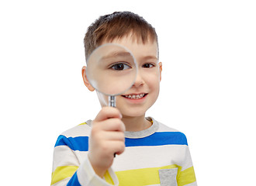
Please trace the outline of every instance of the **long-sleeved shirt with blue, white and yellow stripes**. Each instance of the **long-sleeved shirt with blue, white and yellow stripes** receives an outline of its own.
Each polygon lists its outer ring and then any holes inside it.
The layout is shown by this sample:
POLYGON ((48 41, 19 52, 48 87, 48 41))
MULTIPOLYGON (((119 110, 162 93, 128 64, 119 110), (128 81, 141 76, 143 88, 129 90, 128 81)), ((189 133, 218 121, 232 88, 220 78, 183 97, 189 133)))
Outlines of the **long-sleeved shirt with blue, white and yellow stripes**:
POLYGON ((150 119, 150 128, 125 132, 126 149, 115 157, 104 179, 95 174, 87 156, 92 121, 62 133, 54 147, 51 185, 196 186, 185 135, 150 119))

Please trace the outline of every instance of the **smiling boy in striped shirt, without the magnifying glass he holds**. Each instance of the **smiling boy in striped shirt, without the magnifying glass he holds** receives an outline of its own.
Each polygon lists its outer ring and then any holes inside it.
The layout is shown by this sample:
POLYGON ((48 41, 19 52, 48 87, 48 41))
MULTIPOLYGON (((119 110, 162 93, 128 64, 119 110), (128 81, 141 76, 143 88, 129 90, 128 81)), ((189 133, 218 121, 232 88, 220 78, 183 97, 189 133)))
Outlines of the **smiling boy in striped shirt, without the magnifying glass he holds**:
MULTIPOLYGON (((132 12, 104 15, 88 27, 86 59, 104 43, 118 43, 133 53, 137 79, 128 91, 116 96, 116 108, 106 106, 106 96, 98 94, 102 109, 96 118, 59 136, 51 184, 195 186, 185 135, 145 118, 157 100, 161 81, 154 28, 132 12)), ((85 86, 94 91, 85 70, 85 86)))

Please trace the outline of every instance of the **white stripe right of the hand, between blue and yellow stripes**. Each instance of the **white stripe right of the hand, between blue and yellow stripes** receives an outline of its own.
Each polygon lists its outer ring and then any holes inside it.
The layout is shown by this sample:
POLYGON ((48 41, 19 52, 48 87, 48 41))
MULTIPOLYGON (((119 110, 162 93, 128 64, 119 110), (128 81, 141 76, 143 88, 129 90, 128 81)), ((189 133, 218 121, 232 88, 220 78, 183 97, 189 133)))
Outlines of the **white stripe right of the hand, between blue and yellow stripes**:
POLYGON ((124 153, 116 156, 112 168, 114 171, 125 171, 177 164, 185 169, 192 167, 191 160, 185 156, 188 150, 185 145, 126 147, 124 153))

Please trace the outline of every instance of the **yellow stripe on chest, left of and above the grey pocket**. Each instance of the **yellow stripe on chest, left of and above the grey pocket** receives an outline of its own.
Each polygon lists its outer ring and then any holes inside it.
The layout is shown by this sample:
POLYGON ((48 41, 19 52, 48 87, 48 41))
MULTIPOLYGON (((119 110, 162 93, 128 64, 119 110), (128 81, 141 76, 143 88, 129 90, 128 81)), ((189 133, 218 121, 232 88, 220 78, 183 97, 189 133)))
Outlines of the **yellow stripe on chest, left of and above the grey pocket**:
POLYGON ((178 170, 181 170, 181 167, 173 164, 164 167, 118 171, 116 172, 116 176, 119 179, 119 186, 160 184, 158 170, 171 169, 176 167, 178 167, 178 170))

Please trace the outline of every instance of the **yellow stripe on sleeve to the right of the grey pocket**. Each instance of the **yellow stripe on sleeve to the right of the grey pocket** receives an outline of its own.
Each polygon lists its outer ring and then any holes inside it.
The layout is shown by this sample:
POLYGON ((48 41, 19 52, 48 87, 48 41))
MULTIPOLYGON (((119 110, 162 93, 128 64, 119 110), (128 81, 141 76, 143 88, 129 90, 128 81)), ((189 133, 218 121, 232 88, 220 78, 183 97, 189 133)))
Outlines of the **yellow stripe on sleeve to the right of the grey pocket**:
POLYGON ((189 167, 184 171, 181 171, 178 176, 178 186, 183 186, 185 184, 191 184, 195 182, 195 171, 194 167, 189 167))

